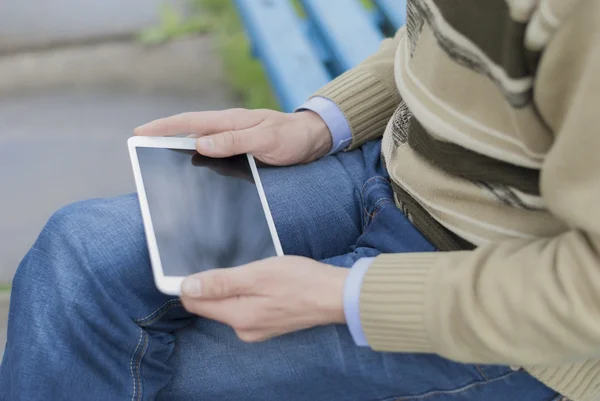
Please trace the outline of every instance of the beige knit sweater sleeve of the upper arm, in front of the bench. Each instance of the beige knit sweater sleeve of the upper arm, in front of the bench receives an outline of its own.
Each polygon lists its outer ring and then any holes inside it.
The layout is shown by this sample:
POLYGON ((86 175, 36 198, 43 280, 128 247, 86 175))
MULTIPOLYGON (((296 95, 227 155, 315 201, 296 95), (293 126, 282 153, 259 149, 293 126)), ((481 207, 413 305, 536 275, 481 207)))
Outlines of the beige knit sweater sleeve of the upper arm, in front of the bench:
POLYGON ((313 97, 333 101, 352 131, 350 149, 383 135, 400 103, 394 80, 394 57, 405 29, 385 39, 377 53, 321 88, 313 97))

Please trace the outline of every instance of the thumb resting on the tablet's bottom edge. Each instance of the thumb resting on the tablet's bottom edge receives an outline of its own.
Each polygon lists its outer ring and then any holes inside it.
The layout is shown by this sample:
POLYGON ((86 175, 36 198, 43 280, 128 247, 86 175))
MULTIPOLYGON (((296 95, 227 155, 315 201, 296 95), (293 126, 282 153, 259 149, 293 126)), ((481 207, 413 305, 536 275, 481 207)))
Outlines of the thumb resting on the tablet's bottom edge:
POLYGON ((242 268, 215 269, 187 277, 181 293, 191 298, 223 299, 244 295, 252 285, 252 277, 242 268))

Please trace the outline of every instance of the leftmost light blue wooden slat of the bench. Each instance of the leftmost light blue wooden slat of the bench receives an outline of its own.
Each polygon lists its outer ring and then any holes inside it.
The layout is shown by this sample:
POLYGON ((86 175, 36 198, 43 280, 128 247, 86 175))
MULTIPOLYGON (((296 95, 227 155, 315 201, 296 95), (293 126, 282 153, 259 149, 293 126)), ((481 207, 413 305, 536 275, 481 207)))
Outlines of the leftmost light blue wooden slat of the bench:
POLYGON ((331 80, 289 0, 235 2, 284 111, 294 110, 331 80))

